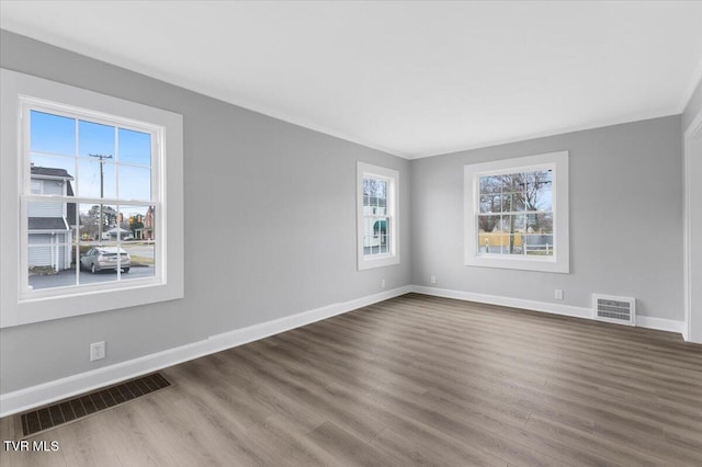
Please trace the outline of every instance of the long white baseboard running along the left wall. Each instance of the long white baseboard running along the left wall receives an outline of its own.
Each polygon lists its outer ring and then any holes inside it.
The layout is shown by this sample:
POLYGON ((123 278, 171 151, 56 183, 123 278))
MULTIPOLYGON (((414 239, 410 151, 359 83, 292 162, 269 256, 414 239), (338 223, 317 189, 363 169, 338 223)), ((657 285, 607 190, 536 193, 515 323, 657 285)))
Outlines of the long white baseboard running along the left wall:
POLYGON ((145 375, 157 369, 268 338, 337 315, 342 315, 410 292, 410 286, 404 286, 349 301, 332 304, 272 321, 253 324, 248 328, 212 335, 203 341, 140 356, 127 362, 79 373, 13 392, 7 392, 0 395, 0 417, 23 412, 46 403, 145 375))

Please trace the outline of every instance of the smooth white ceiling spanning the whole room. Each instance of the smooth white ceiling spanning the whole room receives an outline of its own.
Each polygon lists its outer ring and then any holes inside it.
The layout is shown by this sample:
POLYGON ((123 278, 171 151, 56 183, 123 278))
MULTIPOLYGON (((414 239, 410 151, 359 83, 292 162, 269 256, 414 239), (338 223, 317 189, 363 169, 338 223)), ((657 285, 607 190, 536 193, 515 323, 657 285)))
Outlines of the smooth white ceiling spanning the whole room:
POLYGON ((680 113, 702 2, 2 1, 0 26, 406 157, 680 113))

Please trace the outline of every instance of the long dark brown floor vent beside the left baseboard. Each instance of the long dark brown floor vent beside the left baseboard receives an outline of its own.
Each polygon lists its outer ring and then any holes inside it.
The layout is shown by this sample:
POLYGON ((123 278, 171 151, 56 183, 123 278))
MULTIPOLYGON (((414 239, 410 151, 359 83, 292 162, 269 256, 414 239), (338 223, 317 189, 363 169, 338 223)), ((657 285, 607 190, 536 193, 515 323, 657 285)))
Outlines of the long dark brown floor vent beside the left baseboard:
POLYGON ((52 406, 22 413, 20 415, 22 431, 24 436, 31 436, 167 388, 170 385, 160 373, 154 373, 66 399, 52 406))

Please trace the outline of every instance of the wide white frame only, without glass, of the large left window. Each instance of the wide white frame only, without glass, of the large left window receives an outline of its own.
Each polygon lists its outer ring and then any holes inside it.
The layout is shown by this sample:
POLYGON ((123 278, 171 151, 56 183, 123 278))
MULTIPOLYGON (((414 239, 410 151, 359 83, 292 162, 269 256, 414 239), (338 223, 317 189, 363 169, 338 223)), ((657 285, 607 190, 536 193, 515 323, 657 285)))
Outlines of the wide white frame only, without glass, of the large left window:
MULTIPOLYGON (((182 298, 184 296, 182 115, 131 101, 1 69, 0 327, 12 327, 182 298), (31 194, 24 121, 30 109, 77 113, 91 121, 149 125, 159 135, 152 155, 160 213, 157 216, 156 276, 56 289, 29 291, 26 206, 31 194)), ((34 197, 33 197, 34 196, 34 197)), ((36 198, 36 200, 35 200, 36 198)), ((79 196, 71 202, 80 203, 79 196)), ((128 202, 127 202, 128 203, 128 202)))

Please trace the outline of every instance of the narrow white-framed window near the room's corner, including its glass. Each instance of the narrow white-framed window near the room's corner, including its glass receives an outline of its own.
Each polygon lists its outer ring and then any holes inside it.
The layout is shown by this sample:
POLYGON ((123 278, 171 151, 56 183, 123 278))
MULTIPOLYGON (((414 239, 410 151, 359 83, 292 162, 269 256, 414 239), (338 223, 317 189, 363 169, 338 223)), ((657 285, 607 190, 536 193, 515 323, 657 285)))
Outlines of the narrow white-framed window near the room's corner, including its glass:
POLYGON ((399 263, 396 170, 358 162, 358 267, 399 263))

